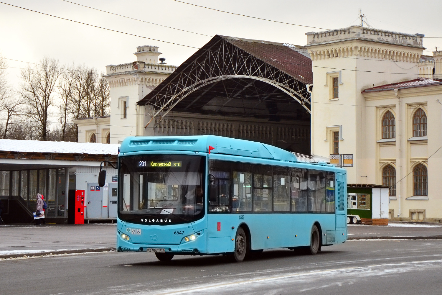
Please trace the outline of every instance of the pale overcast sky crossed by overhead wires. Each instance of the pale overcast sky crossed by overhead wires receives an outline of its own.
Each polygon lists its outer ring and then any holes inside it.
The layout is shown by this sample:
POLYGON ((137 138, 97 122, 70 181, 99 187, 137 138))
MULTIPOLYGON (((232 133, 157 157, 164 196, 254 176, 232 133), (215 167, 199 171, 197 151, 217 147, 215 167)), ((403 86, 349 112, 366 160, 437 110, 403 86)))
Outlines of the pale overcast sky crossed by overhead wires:
MULTIPOLYGON (((1 0, 47 14, 144 37, 201 47, 210 37, 126 19, 62 0, 1 0)), ((297 45, 306 44, 305 32, 336 29, 358 24, 359 9, 374 28, 426 37, 442 37, 442 1, 298 1, 298 0, 183 0, 210 8, 296 23, 299 27, 199 8, 173 0, 71 0, 136 19, 213 36, 215 34, 297 45)), ((0 3, 0 52, 4 57, 38 62, 44 55, 62 64, 84 63, 100 71, 106 65, 135 61, 135 47, 156 45, 170 65, 179 65, 196 49, 107 31, 57 19, 0 3)), ((424 38, 431 55, 442 48, 442 38, 424 38)), ((9 80, 15 87, 19 69, 26 63, 8 61, 9 80)))

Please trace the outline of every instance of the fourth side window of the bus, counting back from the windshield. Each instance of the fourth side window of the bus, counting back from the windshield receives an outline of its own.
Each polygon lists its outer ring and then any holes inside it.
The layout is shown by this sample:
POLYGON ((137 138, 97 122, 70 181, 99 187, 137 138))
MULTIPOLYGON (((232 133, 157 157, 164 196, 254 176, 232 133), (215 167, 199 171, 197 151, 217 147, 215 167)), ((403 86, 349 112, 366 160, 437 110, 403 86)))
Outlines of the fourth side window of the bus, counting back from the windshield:
POLYGON ((273 211, 290 211, 290 169, 273 169, 273 211))

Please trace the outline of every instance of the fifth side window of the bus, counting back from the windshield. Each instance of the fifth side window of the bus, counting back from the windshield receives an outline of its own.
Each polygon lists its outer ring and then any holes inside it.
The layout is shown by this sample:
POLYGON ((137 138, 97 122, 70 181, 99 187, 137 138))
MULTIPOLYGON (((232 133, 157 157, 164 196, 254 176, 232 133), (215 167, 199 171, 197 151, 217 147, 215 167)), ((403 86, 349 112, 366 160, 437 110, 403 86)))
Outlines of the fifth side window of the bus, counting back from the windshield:
POLYGON ((293 212, 307 212, 308 190, 307 190, 307 170, 294 168, 292 169, 291 202, 293 212))

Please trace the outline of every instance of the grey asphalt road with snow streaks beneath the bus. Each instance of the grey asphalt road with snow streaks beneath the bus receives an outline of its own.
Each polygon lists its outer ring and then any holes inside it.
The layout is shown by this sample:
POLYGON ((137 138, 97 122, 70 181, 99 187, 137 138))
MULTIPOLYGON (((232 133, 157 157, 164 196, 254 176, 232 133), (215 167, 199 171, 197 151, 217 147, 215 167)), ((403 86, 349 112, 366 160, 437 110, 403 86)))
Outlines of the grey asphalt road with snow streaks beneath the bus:
POLYGON ((347 241, 317 255, 288 249, 223 256, 91 253, 0 261, 0 294, 440 294, 441 240, 347 241))

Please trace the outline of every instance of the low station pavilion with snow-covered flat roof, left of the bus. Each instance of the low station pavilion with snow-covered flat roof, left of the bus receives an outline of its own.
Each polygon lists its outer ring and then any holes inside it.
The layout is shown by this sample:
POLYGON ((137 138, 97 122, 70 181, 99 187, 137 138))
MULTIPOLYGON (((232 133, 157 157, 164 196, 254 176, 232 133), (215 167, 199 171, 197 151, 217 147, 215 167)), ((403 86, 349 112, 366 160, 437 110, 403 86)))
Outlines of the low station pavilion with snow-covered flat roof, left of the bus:
POLYGON ((98 172, 101 161, 116 161, 117 155, 118 145, 111 144, 0 139, 3 221, 32 222, 40 193, 47 203, 46 221, 68 223, 76 191, 84 191, 86 222, 115 220, 117 171, 105 167, 105 188, 98 187, 98 172))

